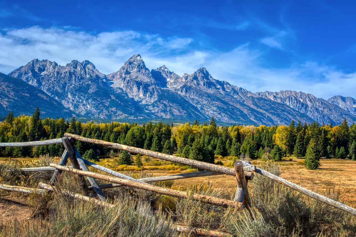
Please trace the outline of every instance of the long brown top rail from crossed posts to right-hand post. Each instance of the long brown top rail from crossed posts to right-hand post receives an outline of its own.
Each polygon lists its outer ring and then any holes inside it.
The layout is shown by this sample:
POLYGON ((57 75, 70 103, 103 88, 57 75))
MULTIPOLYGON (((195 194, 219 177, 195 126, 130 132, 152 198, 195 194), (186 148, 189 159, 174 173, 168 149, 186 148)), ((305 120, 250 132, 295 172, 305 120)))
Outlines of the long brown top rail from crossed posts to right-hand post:
MULTIPOLYGON (((167 155, 167 154, 159 153, 156 151, 145 150, 145 149, 141 149, 141 148, 137 148, 137 147, 133 147, 133 146, 126 146, 126 145, 108 142, 108 141, 102 141, 102 140, 98 140, 98 139, 84 138, 83 136, 70 134, 70 133, 65 133, 64 136, 74 138, 78 141, 101 145, 101 146, 109 147, 112 149, 129 151, 132 153, 146 155, 146 156, 158 158, 161 160, 171 161, 174 163, 180 163, 182 165, 192 166, 195 168, 200 168, 200 169, 214 171, 217 173, 229 174, 231 176, 235 176, 235 169, 225 167, 225 166, 219 166, 219 165, 215 165, 215 164, 211 164, 211 163, 206 163, 203 161, 197 161, 197 160, 187 159, 187 158, 183 158, 183 157, 167 155)), ((251 166, 251 165, 248 165, 248 166, 251 166)), ((250 169, 250 167, 248 167, 248 169, 250 169)), ((245 177, 248 180, 252 180, 253 173, 247 171, 247 172, 245 172, 245 177)))

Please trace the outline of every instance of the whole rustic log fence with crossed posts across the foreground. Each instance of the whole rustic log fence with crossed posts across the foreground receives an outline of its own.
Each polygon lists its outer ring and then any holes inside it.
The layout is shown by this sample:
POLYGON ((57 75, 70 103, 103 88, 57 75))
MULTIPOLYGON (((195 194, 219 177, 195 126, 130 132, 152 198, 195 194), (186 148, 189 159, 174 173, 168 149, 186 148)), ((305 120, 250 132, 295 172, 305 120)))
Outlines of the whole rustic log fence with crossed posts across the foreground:
MULTIPOLYGON (((229 167, 219 166, 219 165, 206 163, 206 162, 202 162, 202 161, 190 160, 190 159, 183 158, 183 157, 172 156, 172 155, 167 155, 164 153, 145 150, 145 149, 141 149, 141 148, 137 148, 137 147, 126 146, 126 145, 122 145, 122 144, 117 144, 117 143, 112 143, 112 142, 107 142, 107 141, 102 141, 102 140, 97 140, 97 139, 84 138, 82 136, 69 134, 69 133, 65 133, 64 137, 61 139, 51 139, 51 140, 46 140, 46 141, 33 141, 33 142, 0 143, 0 146, 5 146, 5 147, 6 146, 12 146, 12 147, 15 147, 15 146, 38 146, 38 145, 60 144, 60 143, 63 143, 65 150, 64 150, 63 155, 62 155, 61 159, 59 160, 58 164, 51 163, 50 166, 47 166, 47 167, 22 168, 21 169, 22 172, 53 171, 53 176, 50 180, 51 185, 40 183, 39 185, 43 189, 31 189, 31 188, 26 188, 26 187, 17 187, 17 186, 0 184, 0 189, 16 191, 16 192, 23 192, 23 193, 29 193, 29 192, 34 192, 34 191, 45 192, 45 190, 53 191, 53 190, 55 190, 53 188, 53 185, 56 182, 57 175, 60 174, 62 171, 66 171, 66 172, 78 174, 80 181, 81 181, 80 182, 81 187, 83 188, 84 193, 88 193, 88 192, 90 192, 90 190, 94 190, 94 192, 100 199, 100 201, 97 199, 94 199, 96 204, 110 206, 111 204, 108 204, 105 202, 106 197, 103 194, 102 189, 129 186, 129 187, 133 187, 133 188, 149 190, 151 192, 156 192, 159 194, 174 196, 177 198, 187 198, 186 192, 173 190, 173 189, 169 189, 169 188, 157 187, 157 186, 149 184, 149 183, 157 182, 157 181, 168 181, 168 180, 176 180, 176 179, 184 179, 184 178, 206 177, 206 176, 213 176, 213 175, 220 175, 220 174, 228 174, 231 176, 235 176, 237 179, 237 188, 236 188, 234 201, 216 198, 213 196, 208 196, 208 195, 203 195, 203 194, 194 194, 193 199, 202 201, 204 203, 223 206, 223 207, 233 206, 235 208, 240 208, 240 209, 242 209, 242 208, 249 209, 251 207, 251 201, 250 201, 250 196, 248 193, 247 183, 249 180, 253 179, 254 172, 255 172, 255 173, 261 174, 265 177, 268 177, 268 178, 272 179, 273 181, 276 181, 278 183, 286 185, 287 187, 290 187, 290 188, 292 188, 300 193, 303 193, 311 198, 314 198, 316 200, 319 200, 323 203, 329 204, 331 206, 334 206, 335 208, 346 211, 346 212, 350 213, 351 215, 356 216, 355 209, 353 209, 345 204, 339 203, 335 200, 332 200, 330 198, 326 198, 325 196, 320 195, 318 193, 314 193, 308 189, 300 187, 299 185, 289 182, 289 181, 282 179, 278 176, 275 176, 263 169, 260 169, 254 165, 251 165, 251 163, 247 162, 247 161, 236 161, 234 163, 234 168, 229 168, 229 167), (150 156, 150 157, 154 157, 154 158, 159 158, 161 160, 171 161, 171 162, 179 163, 182 165, 188 165, 188 166, 192 166, 195 168, 204 169, 205 171, 185 173, 185 174, 175 174, 175 175, 169 175, 169 176, 134 179, 132 177, 126 176, 119 172, 113 171, 109 168, 106 168, 106 167, 100 166, 98 164, 95 164, 93 162, 90 162, 88 160, 85 160, 79 154, 77 148, 74 146, 75 141, 77 141, 77 140, 82 141, 82 142, 88 142, 91 144, 109 147, 112 149, 124 150, 124 151, 132 152, 132 153, 137 153, 137 154, 146 155, 146 156, 150 156), (66 166, 68 159, 71 161, 72 166, 66 166), (88 166, 99 169, 100 171, 104 171, 104 172, 110 174, 111 176, 99 174, 99 173, 95 173, 95 172, 90 172, 88 169, 88 166), (87 181, 84 177, 87 177, 91 186, 88 186, 87 181), (95 179, 105 180, 105 181, 110 182, 110 184, 98 185, 98 183, 95 181, 95 179)), ((81 199, 84 201, 90 201, 93 199, 93 198, 89 198, 87 196, 83 196, 80 194, 69 193, 66 190, 62 190, 62 192, 67 192, 68 195, 71 195, 74 198, 81 199)), ((177 230, 184 231, 184 230, 186 230, 186 227, 177 226, 177 230)), ((207 230, 202 230, 202 229, 198 230, 198 228, 197 228, 197 230, 195 230, 195 233, 199 234, 199 235, 203 235, 203 236, 229 236, 229 234, 227 234, 227 233, 222 233, 222 232, 217 232, 217 231, 209 232, 207 230)))

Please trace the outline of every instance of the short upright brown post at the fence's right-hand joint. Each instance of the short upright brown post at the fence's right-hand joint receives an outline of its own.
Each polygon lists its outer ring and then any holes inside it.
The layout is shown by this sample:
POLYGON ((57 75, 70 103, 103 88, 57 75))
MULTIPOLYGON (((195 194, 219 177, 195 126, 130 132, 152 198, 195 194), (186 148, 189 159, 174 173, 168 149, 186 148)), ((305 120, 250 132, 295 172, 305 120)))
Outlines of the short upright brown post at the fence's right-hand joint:
POLYGON ((251 207, 250 195, 248 194, 247 182, 245 179, 244 167, 242 161, 236 161, 234 163, 237 189, 235 194, 235 201, 243 202, 247 209, 251 207))

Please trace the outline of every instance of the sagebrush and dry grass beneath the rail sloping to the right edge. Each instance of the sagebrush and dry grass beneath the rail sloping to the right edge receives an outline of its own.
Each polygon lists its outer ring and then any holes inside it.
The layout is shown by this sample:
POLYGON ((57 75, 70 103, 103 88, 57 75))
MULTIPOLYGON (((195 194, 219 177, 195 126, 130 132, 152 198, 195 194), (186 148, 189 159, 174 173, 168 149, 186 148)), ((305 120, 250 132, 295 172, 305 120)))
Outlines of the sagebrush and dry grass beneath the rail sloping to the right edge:
MULTIPOLYGON (((273 161, 262 164, 261 169, 281 174, 273 161)), ((355 236, 356 222, 350 214, 258 174, 251 184, 251 214, 244 210, 227 220, 234 236, 355 236)), ((335 190, 324 195, 339 201, 335 190)))

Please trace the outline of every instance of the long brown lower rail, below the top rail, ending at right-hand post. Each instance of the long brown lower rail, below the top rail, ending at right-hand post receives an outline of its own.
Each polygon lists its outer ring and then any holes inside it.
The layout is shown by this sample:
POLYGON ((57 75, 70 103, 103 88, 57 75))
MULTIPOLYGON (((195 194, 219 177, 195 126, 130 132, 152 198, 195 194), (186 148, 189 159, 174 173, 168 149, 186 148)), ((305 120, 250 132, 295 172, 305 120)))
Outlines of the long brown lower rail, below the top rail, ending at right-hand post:
MULTIPOLYGON (((187 192, 183 192, 183 191, 179 191, 179 190, 157 187, 157 186, 151 185, 151 184, 146 184, 146 183, 143 184, 143 183, 139 183, 136 181, 131 181, 131 180, 122 179, 122 178, 116 178, 116 177, 107 176, 104 174, 98 174, 98 173, 94 173, 94 172, 82 171, 80 169, 73 169, 73 168, 69 168, 66 166, 60 166, 60 165, 56 165, 54 163, 51 163, 49 166, 55 167, 56 169, 59 169, 62 171, 67 171, 70 173, 79 174, 79 175, 83 175, 83 176, 87 176, 87 177, 93 177, 93 178, 105 180, 105 181, 108 181, 111 183, 118 183, 118 184, 126 185, 126 186, 129 186, 132 188, 138 188, 138 189, 143 189, 143 190, 147 190, 147 191, 151 191, 151 192, 155 192, 155 193, 159 193, 159 194, 163 194, 163 195, 174 196, 176 198, 188 198, 187 192)), ((193 194, 193 199, 197 200, 197 201, 202 201, 203 203, 208 203, 211 205, 223 206, 225 208, 227 208, 229 206, 241 208, 241 206, 242 206, 242 203, 238 203, 235 201, 222 199, 222 198, 215 198, 215 197, 203 195, 203 194, 193 194)))

